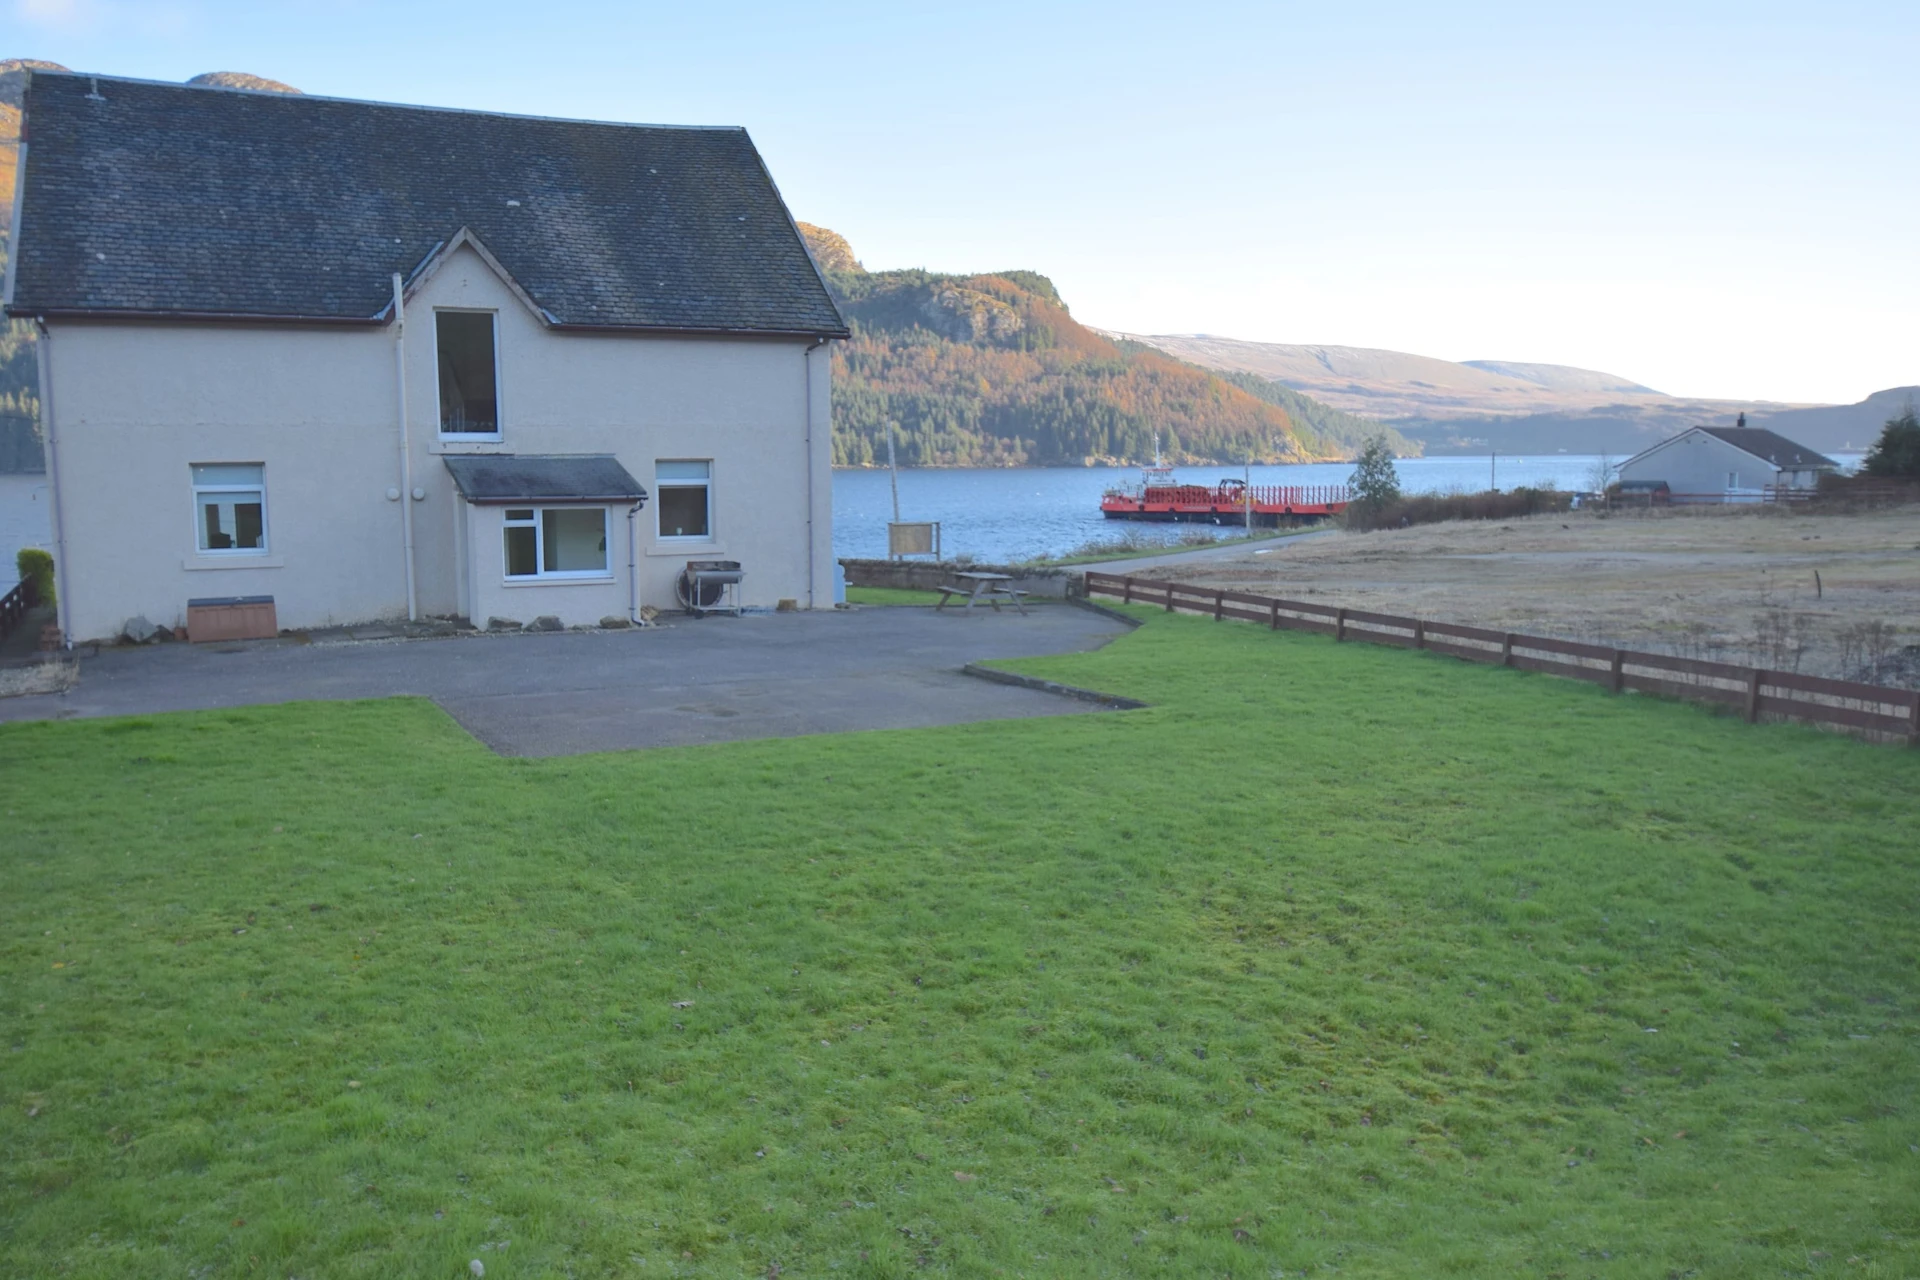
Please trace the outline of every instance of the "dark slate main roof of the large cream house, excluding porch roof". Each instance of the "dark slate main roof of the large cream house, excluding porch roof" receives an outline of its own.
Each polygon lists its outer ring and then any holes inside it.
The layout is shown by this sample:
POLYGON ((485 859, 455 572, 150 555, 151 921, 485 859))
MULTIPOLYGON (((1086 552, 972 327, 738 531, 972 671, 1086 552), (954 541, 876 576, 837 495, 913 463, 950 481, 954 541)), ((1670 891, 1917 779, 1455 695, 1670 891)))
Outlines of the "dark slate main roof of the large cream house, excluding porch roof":
POLYGON ((559 326, 845 336, 743 129, 36 71, 13 315, 384 319, 468 228, 559 326))

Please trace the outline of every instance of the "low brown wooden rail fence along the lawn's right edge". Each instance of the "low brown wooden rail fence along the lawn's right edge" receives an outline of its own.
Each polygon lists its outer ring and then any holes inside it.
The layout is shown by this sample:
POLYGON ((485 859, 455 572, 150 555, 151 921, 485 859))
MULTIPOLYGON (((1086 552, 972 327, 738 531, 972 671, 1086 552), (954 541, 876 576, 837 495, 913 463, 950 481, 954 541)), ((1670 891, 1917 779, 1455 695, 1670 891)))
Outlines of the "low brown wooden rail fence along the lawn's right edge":
POLYGON ((1087 574, 1087 595, 1104 595, 1125 604, 1158 604, 1167 612, 1210 614, 1215 620, 1263 622, 1273 629, 1319 631, 1336 641, 1430 649, 1469 662, 1588 679, 1613 693, 1632 689, 1693 702, 1718 702, 1740 708, 1749 722, 1761 716, 1807 720, 1920 747, 1920 691, 1914 689, 1607 649, 1548 635, 1490 631, 1457 622, 1400 618, 1363 608, 1279 601, 1248 591, 1188 587, 1116 574, 1087 574))

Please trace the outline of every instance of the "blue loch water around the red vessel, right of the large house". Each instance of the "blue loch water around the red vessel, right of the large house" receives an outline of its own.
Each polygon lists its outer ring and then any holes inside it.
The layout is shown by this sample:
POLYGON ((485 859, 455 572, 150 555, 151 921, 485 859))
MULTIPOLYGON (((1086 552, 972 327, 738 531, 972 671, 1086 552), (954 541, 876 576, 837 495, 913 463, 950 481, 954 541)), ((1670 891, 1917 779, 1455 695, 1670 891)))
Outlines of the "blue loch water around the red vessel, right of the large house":
MULTIPOLYGON (((1488 459, 1400 459, 1400 487, 1407 493, 1484 493, 1488 486, 1592 489, 1597 457, 1578 453, 1515 455, 1488 459)), ((1179 466, 1183 484, 1213 486, 1240 480, 1242 466, 1179 466)), ((1300 462, 1254 466, 1254 484, 1346 484, 1352 462, 1300 462)), ((900 518, 939 520, 941 551, 950 558, 973 557, 1008 564, 1060 557, 1100 541, 1129 539, 1162 547, 1194 532, 1231 537, 1238 528, 1206 524, 1140 524, 1108 520, 1100 495, 1114 486, 1139 484, 1137 466, 1004 466, 1004 468, 902 468, 900 518)), ((833 555, 885 557, 893 497, 885 468, 833 472, 833 555)))

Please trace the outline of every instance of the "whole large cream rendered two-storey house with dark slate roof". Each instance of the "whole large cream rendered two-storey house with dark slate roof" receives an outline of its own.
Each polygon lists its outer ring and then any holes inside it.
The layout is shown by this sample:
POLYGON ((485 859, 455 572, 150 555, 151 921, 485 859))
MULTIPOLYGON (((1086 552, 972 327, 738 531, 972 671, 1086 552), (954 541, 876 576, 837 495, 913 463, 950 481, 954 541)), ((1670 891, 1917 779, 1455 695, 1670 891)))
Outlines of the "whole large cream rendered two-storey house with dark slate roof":
POLYGON ((61 628, 831 606, 847 324, 739 129, 35 73, 61 628))

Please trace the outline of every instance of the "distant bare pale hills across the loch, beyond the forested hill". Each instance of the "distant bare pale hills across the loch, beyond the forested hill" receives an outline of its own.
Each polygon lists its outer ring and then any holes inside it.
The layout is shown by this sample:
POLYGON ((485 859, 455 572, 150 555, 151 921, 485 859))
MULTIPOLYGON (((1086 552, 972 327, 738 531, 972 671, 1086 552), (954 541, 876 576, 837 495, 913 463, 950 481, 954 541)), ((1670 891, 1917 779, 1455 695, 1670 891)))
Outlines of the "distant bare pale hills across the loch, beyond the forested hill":
MULTIPOLYGON (((1244 342, 1213 334, 1116 334, 1221 372, 1306 391, 1380 418, 1428 453, 1638 453, 1695 424, 1795 409, 1667 395, 1567 365, 1442 361, 1373 347, 1244 342)), ((1812 441, 1809 441, 1812 443, 1812 441)), ((1820 445, 1816 445, 1820 447, 1820 445)))

